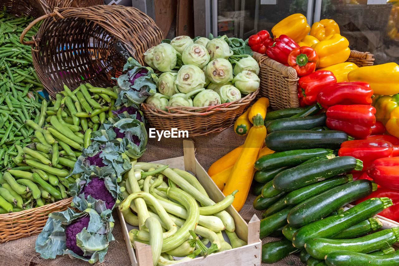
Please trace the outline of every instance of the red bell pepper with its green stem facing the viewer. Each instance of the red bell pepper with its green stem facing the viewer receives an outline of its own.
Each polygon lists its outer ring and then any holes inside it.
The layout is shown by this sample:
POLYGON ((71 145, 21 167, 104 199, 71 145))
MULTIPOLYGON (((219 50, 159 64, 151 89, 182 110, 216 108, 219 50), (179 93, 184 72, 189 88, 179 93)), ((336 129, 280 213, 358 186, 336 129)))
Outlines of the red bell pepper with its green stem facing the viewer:
POLYGON ((316 70, 319 57, 312 47, 295 48, 288 55, 288 65, 296 70, 298 76, 306 76, 316 70))

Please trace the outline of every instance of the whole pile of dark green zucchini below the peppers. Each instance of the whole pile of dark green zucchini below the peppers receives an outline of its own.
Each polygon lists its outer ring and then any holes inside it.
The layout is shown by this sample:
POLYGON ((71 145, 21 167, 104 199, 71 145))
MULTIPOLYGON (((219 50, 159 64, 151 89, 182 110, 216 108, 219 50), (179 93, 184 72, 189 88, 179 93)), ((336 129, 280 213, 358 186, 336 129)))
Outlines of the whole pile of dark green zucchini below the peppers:
POLYGON ((371 233, 382 227, 373 216, 391 206, 391 199, 368 199, 344 211, 377 185, 353 180, 350 172, 362 169, 361 160, 336 156, 341 143, 352 137, 326 128, 319 111, 315 105, 266 116, 265 144, 276 152, 255 162, 253 207, 264 211, 261 239, 283 239, 263 245, 262 262, 298 253, 308 266, 371 266, 384 259, 391 264, 383 265, 399 265, 399 254, 391 248, 399 241, 399 228, 371 233))

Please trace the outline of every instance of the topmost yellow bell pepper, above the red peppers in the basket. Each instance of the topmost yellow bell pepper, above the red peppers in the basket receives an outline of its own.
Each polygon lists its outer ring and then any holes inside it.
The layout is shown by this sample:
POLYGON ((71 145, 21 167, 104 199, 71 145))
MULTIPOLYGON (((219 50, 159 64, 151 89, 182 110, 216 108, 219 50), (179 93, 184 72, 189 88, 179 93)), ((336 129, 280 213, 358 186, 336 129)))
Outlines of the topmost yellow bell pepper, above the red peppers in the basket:
POLYGON ((310 31, 306 17, 302 14, 292 14, 281 20, 272 28, 275 39, 284 34, 296 41, 302 40, 310 31))

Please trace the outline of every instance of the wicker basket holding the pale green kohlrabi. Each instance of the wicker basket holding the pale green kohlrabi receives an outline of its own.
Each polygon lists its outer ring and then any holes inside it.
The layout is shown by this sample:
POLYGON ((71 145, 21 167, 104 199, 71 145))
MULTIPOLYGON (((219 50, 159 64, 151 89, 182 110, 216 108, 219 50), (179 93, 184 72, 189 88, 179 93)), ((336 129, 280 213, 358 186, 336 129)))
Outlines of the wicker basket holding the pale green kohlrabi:
POLYGON ((255 99, 259 89, 234 102, 211 107, 167 107, 168 111, 142 103, 148 125, 157 130, 187 130, 189 137, 223 131, 232 125, 255 99), (173 113, 171 112, 173 111, 173 113))

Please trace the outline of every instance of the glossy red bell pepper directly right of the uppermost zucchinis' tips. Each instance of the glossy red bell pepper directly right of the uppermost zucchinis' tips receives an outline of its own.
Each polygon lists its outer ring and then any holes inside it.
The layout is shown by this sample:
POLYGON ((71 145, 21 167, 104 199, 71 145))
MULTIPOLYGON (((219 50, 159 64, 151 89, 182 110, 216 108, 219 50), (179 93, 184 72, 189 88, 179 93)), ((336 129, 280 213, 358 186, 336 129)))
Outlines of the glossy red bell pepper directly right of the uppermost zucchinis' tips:
POLYGON ((367 138, 375 124, 375 108, 370 105, 334 105, 328 108, 326 115, 328 128, 344 131, 358 139, 367 138))

